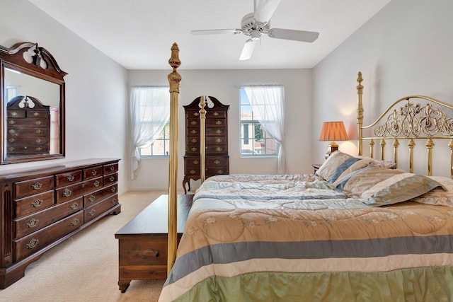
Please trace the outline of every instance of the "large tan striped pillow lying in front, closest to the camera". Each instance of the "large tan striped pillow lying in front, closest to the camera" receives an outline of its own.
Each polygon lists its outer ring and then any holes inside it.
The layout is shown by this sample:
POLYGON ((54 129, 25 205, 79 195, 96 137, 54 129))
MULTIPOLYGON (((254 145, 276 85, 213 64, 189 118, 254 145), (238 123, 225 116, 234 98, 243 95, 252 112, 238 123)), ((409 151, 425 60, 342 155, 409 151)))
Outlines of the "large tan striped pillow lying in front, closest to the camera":
POLYGON ((372 207, 405 202, 442 187, 432 178, 403 170, 369 166, 351 174, 338 180, 337 189, 343 187, 350 197, 360 198, 372 207))

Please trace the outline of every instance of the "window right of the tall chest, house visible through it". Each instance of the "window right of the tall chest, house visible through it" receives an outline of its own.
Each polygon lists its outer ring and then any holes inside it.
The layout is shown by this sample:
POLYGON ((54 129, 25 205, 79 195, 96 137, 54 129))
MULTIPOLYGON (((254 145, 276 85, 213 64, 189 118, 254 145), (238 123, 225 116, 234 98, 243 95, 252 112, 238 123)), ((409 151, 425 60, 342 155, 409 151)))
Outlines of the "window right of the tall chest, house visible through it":
POLYGON ((242 157, 277 157, 280 150, 282 131, 281 86, 257 86, 240 89, 241 98, 241 144, 242 157), (248 89, 248 91, 247 91, 248 89), (262 89, 275 90, 272 94, 260 93, 262 89), (276 131, 278 129, 278 131, 276 131), (274 132, 274 134, 272 134, 274 132), (278 133, 278 134, 276 134, 278 133))

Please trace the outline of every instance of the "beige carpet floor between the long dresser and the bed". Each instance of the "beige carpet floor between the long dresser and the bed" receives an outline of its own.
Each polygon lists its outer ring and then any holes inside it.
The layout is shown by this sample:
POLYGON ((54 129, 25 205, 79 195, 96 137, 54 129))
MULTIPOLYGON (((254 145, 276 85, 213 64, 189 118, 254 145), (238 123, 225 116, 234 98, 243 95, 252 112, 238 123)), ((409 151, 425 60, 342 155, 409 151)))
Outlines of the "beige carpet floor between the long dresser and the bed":
POLYGON ((133 280, 122 294, 118 281, 115 232, 168 192, 127 192, 122 211, 100 221, 45 252, 25 270, 25 277, 0 290, 0 301, 157 301, 164 281, 133 280))

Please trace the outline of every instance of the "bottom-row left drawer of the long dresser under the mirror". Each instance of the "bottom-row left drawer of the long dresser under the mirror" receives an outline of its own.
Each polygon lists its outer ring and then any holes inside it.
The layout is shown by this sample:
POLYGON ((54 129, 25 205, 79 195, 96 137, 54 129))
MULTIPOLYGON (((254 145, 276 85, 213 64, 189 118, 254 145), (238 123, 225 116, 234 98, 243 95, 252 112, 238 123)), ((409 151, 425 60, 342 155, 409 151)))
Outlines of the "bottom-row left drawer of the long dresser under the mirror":
POLYGON ((21 239, 14 240, 16 255, 14 261, 18 262, 28 255, 46 248, 47 245, 71 233, 84 224, 84 211, 78 211, 71 216, 51 224, 40 231, 31 233, 21 239))

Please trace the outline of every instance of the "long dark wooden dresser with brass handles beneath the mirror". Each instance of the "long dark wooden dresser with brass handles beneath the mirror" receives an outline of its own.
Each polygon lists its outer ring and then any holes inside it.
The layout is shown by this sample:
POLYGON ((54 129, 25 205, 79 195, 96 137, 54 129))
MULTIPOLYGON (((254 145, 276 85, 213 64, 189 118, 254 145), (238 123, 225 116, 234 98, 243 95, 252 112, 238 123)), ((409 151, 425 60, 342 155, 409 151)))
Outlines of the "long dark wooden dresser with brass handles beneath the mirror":
POLYGON ((0 174, 0 289, 64 239, 118 214, 118 159, 88 159, 0 174))

